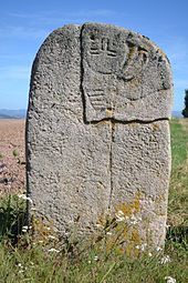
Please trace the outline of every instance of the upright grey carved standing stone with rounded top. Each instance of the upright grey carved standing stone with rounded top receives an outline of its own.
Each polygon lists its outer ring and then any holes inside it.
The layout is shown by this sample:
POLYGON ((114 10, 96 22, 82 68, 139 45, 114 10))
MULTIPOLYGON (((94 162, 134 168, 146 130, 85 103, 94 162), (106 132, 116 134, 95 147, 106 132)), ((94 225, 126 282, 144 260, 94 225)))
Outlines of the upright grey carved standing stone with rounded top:
POLYGON ((86 235, 121 212, 135 220, 135 245, 163 245, 171 89, 168 59, 138 33, 101 23, 52 32, 33 63, 27 123, 39 215, 86 235))

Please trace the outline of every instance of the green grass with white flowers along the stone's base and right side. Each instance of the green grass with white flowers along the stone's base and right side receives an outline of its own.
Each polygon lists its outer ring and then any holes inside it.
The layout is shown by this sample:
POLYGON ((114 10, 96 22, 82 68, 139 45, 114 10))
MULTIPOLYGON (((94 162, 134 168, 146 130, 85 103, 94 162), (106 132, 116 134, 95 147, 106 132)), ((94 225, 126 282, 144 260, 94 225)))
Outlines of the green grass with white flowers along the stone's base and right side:
POLYGON ((0 230, 0 283, 164 283, 167 276, 176 279, 177 283, 187 283, 188 122, 176 119, 170 127, 170 228, 164 251, 152 254, 145 250, 133 257, 119 253, 114 245, 107 252, 105 236, 95 244, 70 237, 61 246, 51 224, 43 224, 39 220, 35 220, 38 233, 23 233, 24 202, 11 195, 0 203, 3 226, 0 230))

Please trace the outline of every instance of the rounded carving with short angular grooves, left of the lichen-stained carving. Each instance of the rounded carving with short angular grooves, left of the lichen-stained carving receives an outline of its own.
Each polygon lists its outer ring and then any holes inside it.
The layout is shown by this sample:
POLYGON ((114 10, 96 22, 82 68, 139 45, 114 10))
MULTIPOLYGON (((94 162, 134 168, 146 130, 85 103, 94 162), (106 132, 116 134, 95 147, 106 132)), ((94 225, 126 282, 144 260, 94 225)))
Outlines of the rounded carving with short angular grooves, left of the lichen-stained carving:
POLYGON ((116 73, 127 60, 128 47, 121 33, 107 34, 101 30, 90 30, 84 39, 84 58, 96 72, 116 73))

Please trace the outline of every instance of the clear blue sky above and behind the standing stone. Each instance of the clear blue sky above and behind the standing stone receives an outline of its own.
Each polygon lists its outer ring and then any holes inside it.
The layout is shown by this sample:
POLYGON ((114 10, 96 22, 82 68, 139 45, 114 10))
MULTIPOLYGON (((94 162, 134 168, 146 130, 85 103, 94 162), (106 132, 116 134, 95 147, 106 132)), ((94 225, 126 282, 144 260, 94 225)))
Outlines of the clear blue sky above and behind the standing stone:
POLYGON ((1 0, 0 109, 27 109, 31 67, 44 39, 67 23, 105 22, 148 37, 170 60, 174 110, 188 88, 187 0, 1 0))

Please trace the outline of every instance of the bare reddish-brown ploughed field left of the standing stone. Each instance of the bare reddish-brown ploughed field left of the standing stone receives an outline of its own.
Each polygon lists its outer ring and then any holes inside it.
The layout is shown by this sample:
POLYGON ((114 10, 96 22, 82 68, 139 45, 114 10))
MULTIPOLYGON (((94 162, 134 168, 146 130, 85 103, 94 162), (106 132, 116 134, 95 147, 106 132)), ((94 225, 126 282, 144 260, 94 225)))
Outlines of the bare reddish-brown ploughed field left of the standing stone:
POLYGON ((24 120, 0 119, 0 195, 23 191, 24 120))

